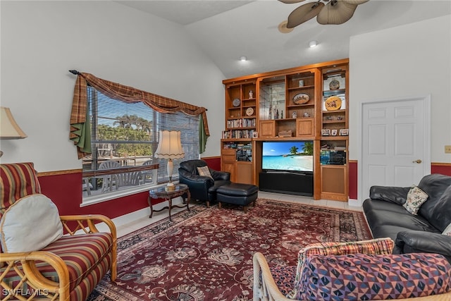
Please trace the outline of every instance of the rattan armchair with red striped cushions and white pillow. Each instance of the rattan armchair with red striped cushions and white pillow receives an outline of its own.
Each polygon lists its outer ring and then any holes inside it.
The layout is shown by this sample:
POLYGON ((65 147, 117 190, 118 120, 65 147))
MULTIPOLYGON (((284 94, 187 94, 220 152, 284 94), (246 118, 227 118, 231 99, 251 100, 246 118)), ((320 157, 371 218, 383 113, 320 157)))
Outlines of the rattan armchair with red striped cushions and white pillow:
POLYGON ((102 215, 58 216, 32 163, 0 164, 0 242, 0 300, 83 301, 108 271, 116 280, 114 223, 102 215), (52 227, 51 237, 40 238, 52 227))

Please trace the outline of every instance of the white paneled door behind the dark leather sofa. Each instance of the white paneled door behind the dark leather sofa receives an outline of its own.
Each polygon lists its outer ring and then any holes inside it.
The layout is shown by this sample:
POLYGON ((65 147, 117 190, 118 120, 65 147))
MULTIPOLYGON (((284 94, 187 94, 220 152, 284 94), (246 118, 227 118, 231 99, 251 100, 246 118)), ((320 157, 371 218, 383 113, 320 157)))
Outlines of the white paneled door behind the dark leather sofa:
POLYGON ((407 187, 431 173, 429 106, 430 97, 362 104, 361 201, 372 185, 407 187))

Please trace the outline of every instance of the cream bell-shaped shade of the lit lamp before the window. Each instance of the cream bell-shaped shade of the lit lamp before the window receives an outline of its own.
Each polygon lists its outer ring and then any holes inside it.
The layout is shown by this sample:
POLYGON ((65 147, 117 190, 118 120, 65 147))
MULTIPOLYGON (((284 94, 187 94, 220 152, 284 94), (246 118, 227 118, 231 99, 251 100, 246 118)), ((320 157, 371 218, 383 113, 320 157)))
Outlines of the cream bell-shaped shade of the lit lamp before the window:
POLYGON ((160 130, 160 140, 154 156, 159 159, 183 158, 185 152, 180 141, 180 131, 160 130))

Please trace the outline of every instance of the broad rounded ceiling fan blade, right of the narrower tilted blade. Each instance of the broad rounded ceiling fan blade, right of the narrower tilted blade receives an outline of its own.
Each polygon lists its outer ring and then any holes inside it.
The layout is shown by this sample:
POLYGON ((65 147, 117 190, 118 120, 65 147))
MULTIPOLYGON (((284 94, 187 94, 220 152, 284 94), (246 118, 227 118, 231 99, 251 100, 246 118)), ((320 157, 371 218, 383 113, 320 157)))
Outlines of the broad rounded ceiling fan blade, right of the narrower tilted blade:
POLYGON ((347 4, 345 1, 332 0, 318 13, 316 20, 323 25, 339 25, 350 20, 356 8, 357 4, 347 4))

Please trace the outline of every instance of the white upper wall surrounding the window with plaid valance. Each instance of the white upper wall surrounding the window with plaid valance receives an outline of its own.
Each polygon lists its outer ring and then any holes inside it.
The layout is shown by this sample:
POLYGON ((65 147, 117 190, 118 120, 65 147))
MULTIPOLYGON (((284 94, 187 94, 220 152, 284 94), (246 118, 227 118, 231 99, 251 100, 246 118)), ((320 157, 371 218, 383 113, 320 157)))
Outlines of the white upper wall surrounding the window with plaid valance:
POLYGON ((220 154, 224 76, 181 25, 113 1, 0 6, 0 103, 28 135, 0 140, 1 162, 33 161, 40 172, 81 168, 68 139, 70 69, 206 107, 211 136, 202 156, 220 154))

